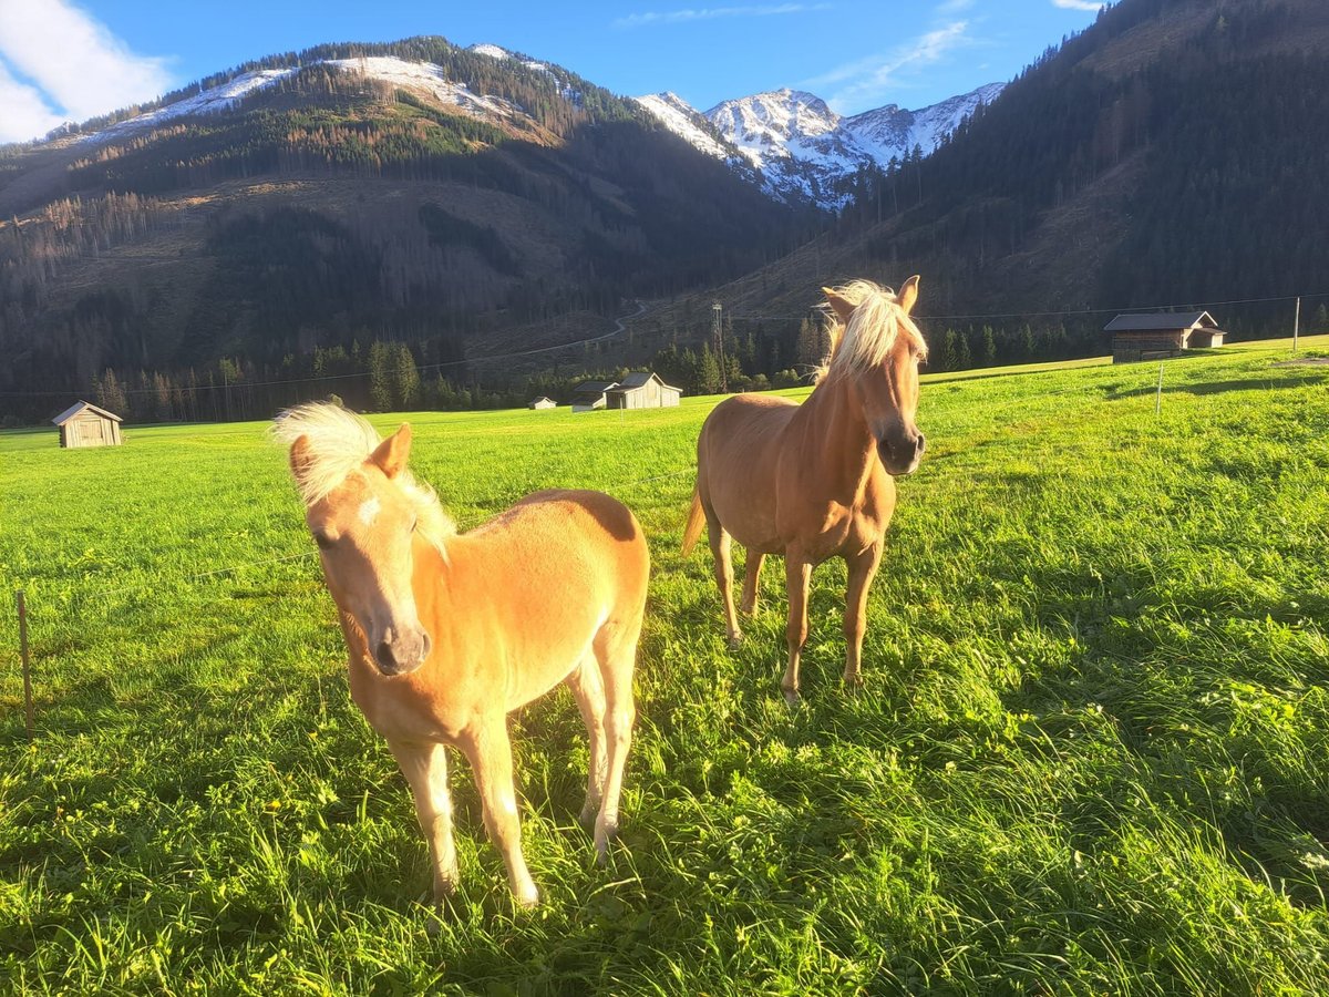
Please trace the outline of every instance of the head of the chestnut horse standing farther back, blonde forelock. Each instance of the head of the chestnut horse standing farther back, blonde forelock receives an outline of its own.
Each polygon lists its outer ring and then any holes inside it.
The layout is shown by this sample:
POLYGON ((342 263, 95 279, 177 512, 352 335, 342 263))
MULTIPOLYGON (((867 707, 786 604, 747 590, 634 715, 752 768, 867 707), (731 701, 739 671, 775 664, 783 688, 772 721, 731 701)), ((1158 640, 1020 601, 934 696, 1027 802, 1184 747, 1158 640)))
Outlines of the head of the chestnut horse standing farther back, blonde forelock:
POLYGON ((918 300, 918 278, 905 280, 898 294, 867 280, 821 290, 839 319, 828 378, 844 379, 857 400, 885 469, 912 475, 926 447, 914 412, 918 364, 928 356, 928 344, 909 318, 918 300))

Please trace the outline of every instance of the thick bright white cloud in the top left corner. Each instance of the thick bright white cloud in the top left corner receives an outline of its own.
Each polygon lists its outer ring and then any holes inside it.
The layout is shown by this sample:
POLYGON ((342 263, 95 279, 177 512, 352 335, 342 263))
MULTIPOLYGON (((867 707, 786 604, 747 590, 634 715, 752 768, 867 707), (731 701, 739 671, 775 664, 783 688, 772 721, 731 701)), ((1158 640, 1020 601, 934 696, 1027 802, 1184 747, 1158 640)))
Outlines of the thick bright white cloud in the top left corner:
MULTIPOLYGON (((40 90, 61 120, 90 118, 152 100, 171 82, 165 60, 134 55, 69 0, 0 0, 0 56, 35 84, 25 89, 32 96, 40 90)), ((11 114, 7 104, 5 132, 13 130, 11 114)))

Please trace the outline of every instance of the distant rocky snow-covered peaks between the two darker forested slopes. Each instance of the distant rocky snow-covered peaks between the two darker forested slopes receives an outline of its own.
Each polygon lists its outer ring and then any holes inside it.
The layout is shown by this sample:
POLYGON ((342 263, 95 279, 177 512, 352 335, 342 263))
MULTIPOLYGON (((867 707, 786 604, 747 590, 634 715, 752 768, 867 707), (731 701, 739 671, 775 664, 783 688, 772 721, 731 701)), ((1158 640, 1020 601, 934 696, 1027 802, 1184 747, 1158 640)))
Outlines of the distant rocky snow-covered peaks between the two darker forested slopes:
POLYGON ((840 209, 851 198, 847 181, 864 170, 885 170, 892 160, 902 162, 916 152, 930 154, 1003 88, 987 84, 920 110, 890 104, 853 117, 841 117, 816 94, 791 89, 723 101, 704 114, 674 93, 637 100, 702 152, 732 162, 738 150, 772 195, 840 209))

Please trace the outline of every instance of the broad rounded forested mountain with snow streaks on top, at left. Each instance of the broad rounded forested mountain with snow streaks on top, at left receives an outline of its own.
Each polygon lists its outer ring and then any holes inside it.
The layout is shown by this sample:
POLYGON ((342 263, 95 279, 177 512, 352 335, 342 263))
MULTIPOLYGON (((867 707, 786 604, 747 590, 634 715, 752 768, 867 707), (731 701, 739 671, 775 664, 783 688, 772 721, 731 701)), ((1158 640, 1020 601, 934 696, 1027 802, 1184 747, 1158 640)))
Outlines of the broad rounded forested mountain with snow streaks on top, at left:
POLYGON ((108 368, 145 393, 295 380, 375 342, 460 380, 440 364, 609 332, 817 223, 634 101, 436 37, 271 56, 0 149, 0 218, 13 417, 108 368))

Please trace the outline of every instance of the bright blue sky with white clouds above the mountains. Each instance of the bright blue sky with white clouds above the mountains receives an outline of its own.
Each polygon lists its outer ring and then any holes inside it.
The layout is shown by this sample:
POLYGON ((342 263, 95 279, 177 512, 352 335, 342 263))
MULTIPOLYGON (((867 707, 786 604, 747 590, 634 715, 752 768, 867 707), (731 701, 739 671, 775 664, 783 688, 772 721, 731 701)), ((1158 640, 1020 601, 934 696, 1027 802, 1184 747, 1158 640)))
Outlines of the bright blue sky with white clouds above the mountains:
POLYGON ((841 113, 921 108, 1009 80, 1095 0, 0 0, 0 141, 323 41, 443 35, 558 62, 617 93, 707 109, 793 86, 841 113))

